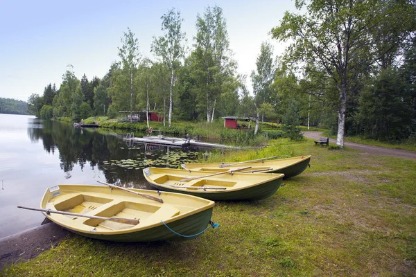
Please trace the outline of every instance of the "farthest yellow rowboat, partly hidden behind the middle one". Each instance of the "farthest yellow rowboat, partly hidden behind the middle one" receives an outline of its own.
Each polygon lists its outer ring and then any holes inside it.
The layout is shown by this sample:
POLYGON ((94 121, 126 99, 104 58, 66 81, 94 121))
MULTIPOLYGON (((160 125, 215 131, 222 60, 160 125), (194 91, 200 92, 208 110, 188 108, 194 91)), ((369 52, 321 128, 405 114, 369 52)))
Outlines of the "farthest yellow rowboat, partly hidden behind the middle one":
POLYGON ((182 168, 189 170, 223 172, 230 169, 250 166, 250 170, 263 170, 263 173, 283 173, 284 179, 300 175, 311 162, 311 156, 293 157, 287 159, 259 159, 239 163, 184 163, 182 168))

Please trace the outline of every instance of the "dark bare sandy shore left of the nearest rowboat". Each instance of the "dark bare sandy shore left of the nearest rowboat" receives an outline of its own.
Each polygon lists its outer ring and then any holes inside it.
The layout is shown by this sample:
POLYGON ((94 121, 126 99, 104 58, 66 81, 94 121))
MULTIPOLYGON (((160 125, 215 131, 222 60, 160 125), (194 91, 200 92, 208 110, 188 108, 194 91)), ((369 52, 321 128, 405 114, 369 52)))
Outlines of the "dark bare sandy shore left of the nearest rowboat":
POLYGON ((51 222, 0 239, 0 270, 12 263, 35 258, 70 234, 51 222))

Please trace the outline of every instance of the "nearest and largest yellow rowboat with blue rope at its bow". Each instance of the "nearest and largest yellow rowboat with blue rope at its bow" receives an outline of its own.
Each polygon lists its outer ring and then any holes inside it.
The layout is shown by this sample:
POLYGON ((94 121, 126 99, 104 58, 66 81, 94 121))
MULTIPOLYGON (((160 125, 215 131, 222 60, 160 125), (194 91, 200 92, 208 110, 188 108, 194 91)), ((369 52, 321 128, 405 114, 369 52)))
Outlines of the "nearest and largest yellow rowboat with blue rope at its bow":
POLYGON ((210 223, 212 201, 179 193, 130 190, 157 197, 163 203, 107 186, 59 185, 46 190, 40 206, 49 209, 44 215, 64 229, 117 242, 190 240, 210 223), (59 211, 76 216, 56 214, 59 211))

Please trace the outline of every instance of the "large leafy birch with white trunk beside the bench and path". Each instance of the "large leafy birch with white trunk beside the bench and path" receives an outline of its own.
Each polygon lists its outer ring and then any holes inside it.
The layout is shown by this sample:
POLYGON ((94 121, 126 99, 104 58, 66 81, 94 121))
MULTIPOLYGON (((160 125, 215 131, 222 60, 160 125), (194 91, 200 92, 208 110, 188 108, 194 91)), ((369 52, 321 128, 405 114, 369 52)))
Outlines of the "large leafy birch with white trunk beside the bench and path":
POLYGON ((279 26, 272 29, 279 42, 291 42, 285 54, 288 64, 301 70, 304 65, 313 65, 309 68, 324 71, 335 84, 336 144, 341 148, 349 88, 357 75, 390 54, 415 30, 415 5, 411 2, 296 0, 296 8, 306 8, 306 12, 286 12, 279 26), (381 30, 389 32, 388 39, 379 35, 381 30))

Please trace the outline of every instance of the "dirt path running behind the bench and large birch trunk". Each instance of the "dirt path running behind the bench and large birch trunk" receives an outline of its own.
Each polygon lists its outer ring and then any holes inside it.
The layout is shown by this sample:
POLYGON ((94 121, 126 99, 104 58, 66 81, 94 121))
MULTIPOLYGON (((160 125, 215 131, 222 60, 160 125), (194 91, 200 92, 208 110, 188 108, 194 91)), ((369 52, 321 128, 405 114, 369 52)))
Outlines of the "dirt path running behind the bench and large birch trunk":
MULTIPOLYGON (((308 139, 315 139, 319 140, 322 137, 322 132, 313 132, 313 131, 306 131, 304 132, 304 136, 308 139)), ((329 143, 336 143, 335 139, 329 139, 329 143)), ((392 149, 392 148, 383 148, 379 146, 372 146, 372 145, 365 145, 360 143, 349 143, 345 142, 345 146, 350 148, 356 148, 363 152, 367 152, 370 154, 380 154, 380 155, 388 155, 388 156, 395 156, 405 159, 416 159, 416 152, 401 150, 401 149, 392 149)))

